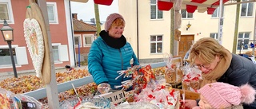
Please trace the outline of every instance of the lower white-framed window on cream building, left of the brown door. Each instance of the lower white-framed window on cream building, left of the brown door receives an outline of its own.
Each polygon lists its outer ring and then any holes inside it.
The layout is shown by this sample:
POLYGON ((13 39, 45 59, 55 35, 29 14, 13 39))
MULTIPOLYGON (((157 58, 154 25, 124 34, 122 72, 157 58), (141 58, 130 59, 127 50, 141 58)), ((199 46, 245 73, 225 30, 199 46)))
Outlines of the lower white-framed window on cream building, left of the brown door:
POLYGON ((150 36, 150 53, 162 53, 162 35, 150 36))

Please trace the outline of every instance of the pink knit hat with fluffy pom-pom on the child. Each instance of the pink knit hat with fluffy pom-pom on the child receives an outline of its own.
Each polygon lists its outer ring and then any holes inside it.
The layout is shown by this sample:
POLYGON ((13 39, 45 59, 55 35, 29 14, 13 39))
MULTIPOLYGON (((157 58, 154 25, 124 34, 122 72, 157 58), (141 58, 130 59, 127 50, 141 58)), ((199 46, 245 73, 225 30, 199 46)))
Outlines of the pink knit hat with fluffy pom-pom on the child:
POLYGON ((256 91, 249 84, 236 87, 225 83, 206 84, 200 94, 214 108, 226 108, 240 103, 253 103, 256 91))

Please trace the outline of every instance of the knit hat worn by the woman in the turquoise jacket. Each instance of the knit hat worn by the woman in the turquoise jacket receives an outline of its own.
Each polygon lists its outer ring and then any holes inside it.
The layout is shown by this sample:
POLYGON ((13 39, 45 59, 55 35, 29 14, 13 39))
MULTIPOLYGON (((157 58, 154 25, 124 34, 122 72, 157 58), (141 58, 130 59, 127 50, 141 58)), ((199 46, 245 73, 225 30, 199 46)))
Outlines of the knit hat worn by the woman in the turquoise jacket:
MULTIPOLYGON (((107 32, 110 29, 110 26, 112 25, 113 21, 117 18, 122 18, 122 15, 120 14, 110 14, 107 18, 106 18, 106 22, 105 22, 105 31, 107 32)), ((123 21, 125 21, 125 19, 122 18, 123 21)))

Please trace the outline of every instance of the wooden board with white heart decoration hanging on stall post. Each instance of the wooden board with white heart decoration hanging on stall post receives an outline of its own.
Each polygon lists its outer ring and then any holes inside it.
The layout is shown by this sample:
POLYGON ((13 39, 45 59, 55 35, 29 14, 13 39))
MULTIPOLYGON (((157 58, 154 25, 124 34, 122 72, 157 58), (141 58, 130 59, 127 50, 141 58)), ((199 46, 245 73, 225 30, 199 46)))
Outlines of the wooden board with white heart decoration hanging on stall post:
POLYGON ((50 84, 51 45, 48 40, 46 22, 38 3, 35 0, 29 0, 29 2, 29 6, 26 6, 26 19, 23 22, 24 37, 26 37, 26 43, 37 76, 42 79, 42 84, 50 84), (36 58, 36 60, 34 58, 36 58))

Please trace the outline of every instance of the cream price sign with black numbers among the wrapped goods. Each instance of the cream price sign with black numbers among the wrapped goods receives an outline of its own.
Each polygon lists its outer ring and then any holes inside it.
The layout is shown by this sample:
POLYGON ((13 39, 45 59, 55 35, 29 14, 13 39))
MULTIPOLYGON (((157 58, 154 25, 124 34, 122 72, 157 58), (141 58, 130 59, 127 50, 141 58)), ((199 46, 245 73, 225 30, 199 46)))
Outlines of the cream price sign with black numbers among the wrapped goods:
POLYGON ((109 95, 104 95, 105 98, 110 99, 112 103, 120 103, 123 99, 125 99, 125 94, 123 90, 115 91, 109 95))

